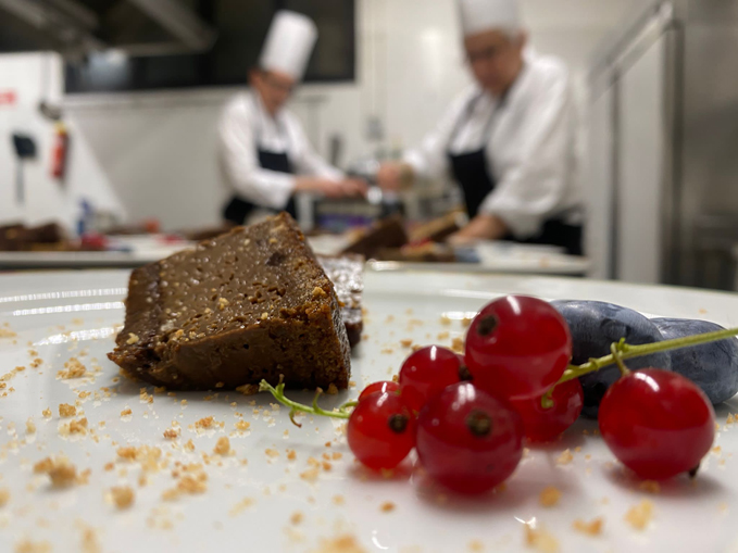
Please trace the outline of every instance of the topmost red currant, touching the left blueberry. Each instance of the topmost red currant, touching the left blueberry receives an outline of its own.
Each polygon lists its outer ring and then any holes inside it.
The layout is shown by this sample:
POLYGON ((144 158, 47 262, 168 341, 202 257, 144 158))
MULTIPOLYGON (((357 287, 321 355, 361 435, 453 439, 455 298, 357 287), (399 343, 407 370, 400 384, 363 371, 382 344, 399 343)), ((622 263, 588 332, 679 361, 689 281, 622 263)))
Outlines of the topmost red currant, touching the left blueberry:
POLYGON ((549 303, 508 296, 488 304, 466 336, 474 384, 504 399, 542 395, 572 359, 566 322, 549 303))

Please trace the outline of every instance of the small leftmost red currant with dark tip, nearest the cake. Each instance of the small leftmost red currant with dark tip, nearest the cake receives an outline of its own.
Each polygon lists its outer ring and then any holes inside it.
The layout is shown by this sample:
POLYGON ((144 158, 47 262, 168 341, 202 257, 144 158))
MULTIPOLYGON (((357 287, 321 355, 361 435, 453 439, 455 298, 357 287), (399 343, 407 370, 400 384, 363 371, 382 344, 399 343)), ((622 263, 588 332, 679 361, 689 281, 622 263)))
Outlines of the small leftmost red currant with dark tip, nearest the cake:
POLYGON ((415 442, 415 417, 395 392, 374 392, 354 407, 347 426, 349 448, 375 470, 395 468, 415 442))

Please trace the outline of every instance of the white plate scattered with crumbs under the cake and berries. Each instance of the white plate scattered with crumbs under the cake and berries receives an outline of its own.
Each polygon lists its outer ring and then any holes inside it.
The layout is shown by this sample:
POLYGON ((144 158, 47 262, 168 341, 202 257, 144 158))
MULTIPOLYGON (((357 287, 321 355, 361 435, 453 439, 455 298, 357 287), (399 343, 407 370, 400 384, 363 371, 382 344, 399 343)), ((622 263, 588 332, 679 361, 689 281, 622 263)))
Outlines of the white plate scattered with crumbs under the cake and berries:
MULTIPOLYGON (((555 537, 561 551, 737 551, 733 520, 738 512, 734 457, 738 425, 725 426, 728 412, 738 411, 735 400, 717 410, 720 453, 709 455, 693 482, 676 479, 662 485, 659 494, 648 494, 624 476, 601 440, 591 435, 595 425, 580 422, 560 442, 531 449, 506 490, 477 500, 448 498, 425 487, 410 467, 391 479, 370 475, 352 462, 336 424, 308 418, 302 429, 296 428, 285 409, 270 407, 273 402, 267 395, 160 393, 151 404, 142 401, 139 386, 121 381, 116 367, 105 359, 114 329, 123 321, 126 280, 126 272, 0 277, 0 328, 17 332, 15 338, 0 339, 0 366, 3 373, 27 367, 7 382, 15 391, 0 398, 0 488, 11 491, 9 503, 0 507, 0 551, 13 551, 24 539, 46 540, 54 552, 88 551, 82 541, 86 528, 93 529, 100 544, 89 551, 107 553, 520 551, 524 523, 534 520, 555 537), (36 355, 43 360, 38 368, 30 366, 36 355), (58 370, 72 356, 88 369, 99 363, 101 372, 87 379, 58 379, 58 370), (80 404, 95 435, 60 436, 60 425, 68 419, 60 420, 59 404, 74 403, 75 392, 83 390, 99 395, 80 404), (187 405, 182 405, 183 399, 187 405), (254 414, 251 401, 261 414, 254 414), (51 419, 41 415, 47 407, 53 412, 51 419), (133 411, 129 419, 121 417, 126 407, 133 411), (264 415, 264 407, 272 413, 264 415), (236 431, 237 412, 251 424, 250 431, 236 431), (205 433, 189 428, 208 415, 225 427, 205 433), (36 425, 32 435, 26 432, 28 418, 36 425), (173 420, 183 429, 174 442, 163 438, 173 420), (162 491, 175 483, 175 463, 201 463, 202 454, 212 454, 223 436, 230 437, 235 455, 212 457, 205 465, 208 490, 163 501, 162 491), (196 445, 193 453, 182 448, 189 439, 196 445), (326 442, 332 447, 326 448, 326 442), (138 485, 137 463, 120 461, 107 470, 105 464, 116 461, 116 448, 125 444, 159 447, 168 466, 149 473, 145 487, 138 485), (268 457, 267 449, 278 456, 268 457), (288 449, 296 451, 295 461, 287 460, 288 449), (574 460, 559 465, 556 458, 565 449, 574 460), (322 460, 324 453, 334 452, 342 458, 332 460, 330 470, 321 469, 314 482, 300 477, 310 468, 309 457, 322 460), (89 483, 55 490, 46 476, 33 474, 36 462, 60 453, 78 469, 91 470, 89 483), (105 501, 105 491, 126 483, 135 489, 135 505, 118 512, 105 501), (559 505, 545 508, 538 495, 549 485, 563 497, 559 505), (247 499, 251 506, 243 506, 247 499), (646 530, 636 531, 623 517, 643 499, 654 504, 653 520, 646 530), (393 508, 384 511, 383 505, 393 508), (296 513, 302 516, 299 524, 291 521, 299 518, 296 513), (604 519, 601 536, 572 530, 575 519, 593 517, 604 519), (327 544, 341 536, 352 537, 363 549, 329 549, 327 544)), ((358 386, 327 399, 326 405, 353 398, 366 382, 396 373, 406 354, 400 340, 449 344, 463 336, 461 319, 491 298, 510 292, 606 300, 648 313, 738 326, 738 297, 731 294, 561 278, 368 273, 368 338, 353 360, 358 386), (442 315, 452 323, 443 325, 442 315)), ((310 400, 305 393, 292 395, 310 400)))

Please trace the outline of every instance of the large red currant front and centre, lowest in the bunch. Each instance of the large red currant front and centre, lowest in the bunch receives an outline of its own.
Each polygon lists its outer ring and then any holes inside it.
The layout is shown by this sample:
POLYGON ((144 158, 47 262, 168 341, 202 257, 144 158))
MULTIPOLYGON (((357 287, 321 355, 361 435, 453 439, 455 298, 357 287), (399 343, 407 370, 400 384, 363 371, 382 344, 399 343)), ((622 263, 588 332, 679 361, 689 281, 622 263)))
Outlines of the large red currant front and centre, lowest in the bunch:
POLYGON ((484 493, 520 463, 523 422, 502 401, 459 382, 423 407, 415 448, 436 481, 459 493, 484 493))

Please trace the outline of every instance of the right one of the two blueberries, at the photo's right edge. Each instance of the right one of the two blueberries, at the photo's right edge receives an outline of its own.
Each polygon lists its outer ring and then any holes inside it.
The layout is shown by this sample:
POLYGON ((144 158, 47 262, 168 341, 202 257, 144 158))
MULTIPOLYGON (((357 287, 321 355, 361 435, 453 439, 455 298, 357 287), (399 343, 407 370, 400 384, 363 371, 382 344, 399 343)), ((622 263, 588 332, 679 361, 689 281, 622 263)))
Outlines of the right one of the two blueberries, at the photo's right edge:
MULTIPOLYGON (((724 330, 715 323, 689 318, 652 318, 664 340, 724 330)), ((668 352, 672 370, 699 386, 717 405, 738 392, 738 339, 692 345, 668 352)))

